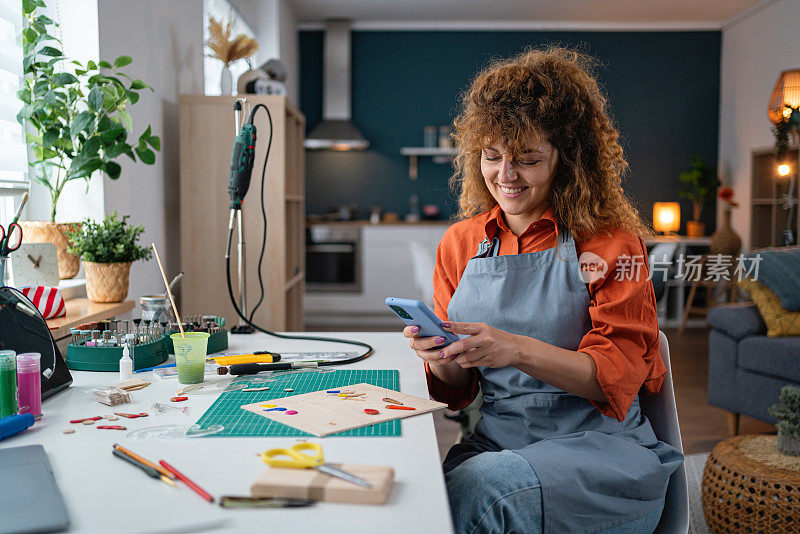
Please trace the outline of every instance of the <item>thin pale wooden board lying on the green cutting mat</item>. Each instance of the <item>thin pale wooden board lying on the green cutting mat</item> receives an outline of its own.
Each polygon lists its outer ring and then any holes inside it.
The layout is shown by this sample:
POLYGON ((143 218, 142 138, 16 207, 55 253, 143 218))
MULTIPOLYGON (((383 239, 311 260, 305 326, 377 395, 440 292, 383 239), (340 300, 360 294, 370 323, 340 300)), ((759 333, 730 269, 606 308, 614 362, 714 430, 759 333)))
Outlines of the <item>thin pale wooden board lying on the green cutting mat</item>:
POLYGON ((442 402, 423 399, 422 397, 392 391, 372 384, 362 383, 331 389, 363 393, 363 396, 357 397, 357 399, 363 400, 346 399, 337 396, 335 393, 326 393, 326 391, 330 390, 320 390, 302 395, 245 404, 242 409, 322 437, 447 407, 442 402), (386 406, 390 403, 383 401, 384 397, 399 401, 403 406, 412 407, 414 410, 387 409, 386 406), (286 411, 265 411, 269 408, 265 408, 262 405, 275 405, 276 407, 286 408, 286 411), (376 415, 366 414, 364 409, 367 408, 378 410, 379 413, 376 415), (287 415, 287 412, 292 410, 297 413, 287 415))

